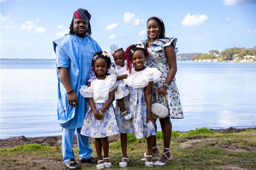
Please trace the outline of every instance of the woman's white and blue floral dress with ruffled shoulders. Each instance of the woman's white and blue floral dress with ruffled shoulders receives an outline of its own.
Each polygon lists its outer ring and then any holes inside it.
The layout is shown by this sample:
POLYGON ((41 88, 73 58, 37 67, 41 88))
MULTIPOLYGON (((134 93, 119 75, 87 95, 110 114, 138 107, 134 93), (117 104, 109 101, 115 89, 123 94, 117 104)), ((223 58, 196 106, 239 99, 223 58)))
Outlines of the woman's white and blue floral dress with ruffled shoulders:
MULTIPOLYGON (((161 80, 153 84, 153 91, 163 86, 163 84, 165 83, 167 74, 169 73, 169 65, 165 57, 164 47, 172 44, 175 49, 175 52, 177 53, 178 49, 175 48, 176 42, 177 42, 177 38, 158 39, 158 40, 155 40, 154 43, 150 44, 150 48, 147 48, 149 52, 149 57, 147 58, 147 61, 145 64, 147 65, 147 67, 157 68, 162 73, 161 80)), ((147 43, 146 40, 143 41, 143 44, 145 47, 146 47, 146 43, 147 43)), ((165 97, 166 106, 169 109, 170 117, 184 118, 183 109, 180 103, 180 94, 179 94, 179 90, 178 90, 175 78, 173 79, 172 83, 167 89, 164 97, 165 97)), ((159 98, 156 93, 153 93, 152 101, 153 103, 164 102, 163 100, 161 101, 161 98, 159 98)))

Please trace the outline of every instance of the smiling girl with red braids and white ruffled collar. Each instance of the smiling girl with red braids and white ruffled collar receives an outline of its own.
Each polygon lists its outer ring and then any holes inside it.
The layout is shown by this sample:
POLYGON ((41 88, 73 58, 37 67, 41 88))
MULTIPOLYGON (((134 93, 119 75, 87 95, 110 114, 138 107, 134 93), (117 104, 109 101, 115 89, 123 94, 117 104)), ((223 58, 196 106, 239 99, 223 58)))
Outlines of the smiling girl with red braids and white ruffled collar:
POLYGON ((132 131, 137 139, 147 138, 147 151, 144 156, 146 166, 153 166, 151 160, 156 122, 151 115, 152 85, 160 80, 161 72, 147 68, 144 64, 148 50, 141 44, 129 46, 124 53, 129 76, 124 79, 129 95, 129 112, 132 114, 132 131), (132 69, 132 65, 135 69, 132 69))

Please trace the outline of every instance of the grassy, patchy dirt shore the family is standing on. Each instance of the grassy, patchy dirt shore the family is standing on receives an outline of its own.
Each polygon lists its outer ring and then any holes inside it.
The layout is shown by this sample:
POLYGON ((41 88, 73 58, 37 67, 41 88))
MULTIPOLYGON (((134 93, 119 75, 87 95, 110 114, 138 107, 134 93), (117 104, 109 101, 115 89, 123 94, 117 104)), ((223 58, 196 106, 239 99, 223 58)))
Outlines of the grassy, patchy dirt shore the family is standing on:
MULTIPOLYGON (((119 169, 122 150, 119 134, 109 137, 111 169, 119 169)), ((76 138, 75 158, 78 162, 76 138)), ((90 145, 95 155, 94 139, 90 145)), ((163 150, 162 132, 157 132, 157 145, 163 150)), ((128 135, 128 167, 123 169, 256 169, 256 128, 208 129, 172 132, 172 159, 164 166, 146 167, 140 160, 146 151, 146 139, 128 135)), ((154 158, 153 162, 156 162, 154 158)), ((92 164, 79 164, 79 169, 96 169, 92 164)), ((26 138, 24 136, 0 140, 0 169, 67 169, 61 154, 61 137, 26 138)))

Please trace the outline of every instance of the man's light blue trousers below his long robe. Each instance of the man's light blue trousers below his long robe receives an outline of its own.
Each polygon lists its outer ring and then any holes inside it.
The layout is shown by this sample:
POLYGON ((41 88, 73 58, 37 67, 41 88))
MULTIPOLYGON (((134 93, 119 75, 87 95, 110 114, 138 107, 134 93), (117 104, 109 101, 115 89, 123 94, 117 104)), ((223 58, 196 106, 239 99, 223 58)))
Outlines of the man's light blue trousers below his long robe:
POLYGON ((63 161, 66 163, 69 159, 75 159, 74 151, 73 151, 73 141, 75 137, 77 137, 77 145, 78 145, 78 155, 83 159, 89 159, 92 157, 92 149, 89 145, 89 137, 82 135, 81 129, 62 129, 62 156, 63 161))

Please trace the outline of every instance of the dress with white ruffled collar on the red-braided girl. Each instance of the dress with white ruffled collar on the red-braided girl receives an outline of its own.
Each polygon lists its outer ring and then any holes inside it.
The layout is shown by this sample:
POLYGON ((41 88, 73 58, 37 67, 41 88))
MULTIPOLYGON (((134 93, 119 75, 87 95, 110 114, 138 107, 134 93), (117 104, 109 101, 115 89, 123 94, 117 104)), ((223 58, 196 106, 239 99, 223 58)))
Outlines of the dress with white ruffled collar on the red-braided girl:
MULTIPOLYGON (((155 68, 146 68, 142 71, 133 71, 124 82, 127 84, 130 95, 127 97, 129 112, 132 118, 130 132, 135 138, 148 138, 150 135, 156 135, 154 123, 149 121, 147 124, 147 103, 145 88, 149 82, 156 83, 160 80, 161 72, 155 68)), ((126 126, 127 128, 127 126, 126 126)))

